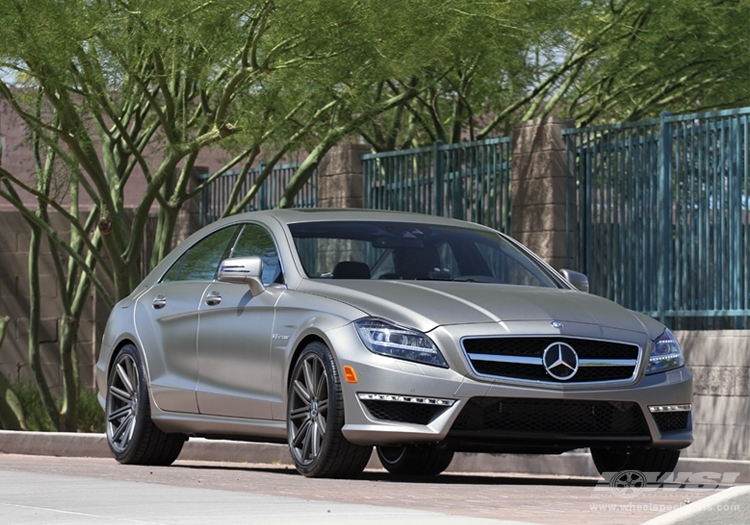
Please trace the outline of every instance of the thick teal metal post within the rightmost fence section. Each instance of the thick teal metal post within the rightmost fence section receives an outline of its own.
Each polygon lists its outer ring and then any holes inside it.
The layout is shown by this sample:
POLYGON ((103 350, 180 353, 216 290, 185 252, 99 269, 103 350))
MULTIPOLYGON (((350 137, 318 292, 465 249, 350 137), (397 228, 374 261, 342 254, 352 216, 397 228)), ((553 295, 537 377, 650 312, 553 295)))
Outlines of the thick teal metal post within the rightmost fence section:
POLYGON ((666 324, 667 311, 670 310, 671 265, 672 265, 672 123, 667 120, 671 115, 662 111, 659 115, 659 182, 658 202, 659 233, 661 242, 661 264, 659 265, 659 320, 666 324))

